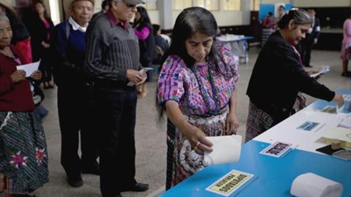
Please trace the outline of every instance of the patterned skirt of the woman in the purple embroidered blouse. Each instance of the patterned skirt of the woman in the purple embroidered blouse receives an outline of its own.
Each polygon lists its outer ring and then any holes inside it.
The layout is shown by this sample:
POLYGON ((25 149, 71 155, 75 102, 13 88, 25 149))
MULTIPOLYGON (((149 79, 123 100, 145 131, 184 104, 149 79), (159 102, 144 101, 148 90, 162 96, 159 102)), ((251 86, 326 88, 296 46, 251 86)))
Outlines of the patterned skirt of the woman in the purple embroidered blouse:
MULTIPOLYGON (((227 112, 211 117, 193 117, 185 119, 202 130, 206 136, 223 136, 227 112)), ((205 168, 204 156, 191 149, 190 142, 183 133, 167 120, 167 176, 166 190, 177 185, 187 177, 205 168)))

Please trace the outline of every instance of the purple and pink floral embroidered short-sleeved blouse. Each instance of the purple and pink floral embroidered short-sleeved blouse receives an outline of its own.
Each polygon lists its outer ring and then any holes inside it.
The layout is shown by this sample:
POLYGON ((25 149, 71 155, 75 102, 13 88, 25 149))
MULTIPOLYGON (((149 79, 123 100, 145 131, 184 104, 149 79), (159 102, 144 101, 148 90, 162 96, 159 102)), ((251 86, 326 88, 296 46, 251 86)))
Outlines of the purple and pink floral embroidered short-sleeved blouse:
POLYGON ((223 43, 216 45, 218 69, 208 58, 207 63, 188 68, 179 56, 167 57, 158 79, 156 94, 160 105, 173 100, 179 103, 183 114, 201 117, 226 110, 239 79, 239 61, 223 43))

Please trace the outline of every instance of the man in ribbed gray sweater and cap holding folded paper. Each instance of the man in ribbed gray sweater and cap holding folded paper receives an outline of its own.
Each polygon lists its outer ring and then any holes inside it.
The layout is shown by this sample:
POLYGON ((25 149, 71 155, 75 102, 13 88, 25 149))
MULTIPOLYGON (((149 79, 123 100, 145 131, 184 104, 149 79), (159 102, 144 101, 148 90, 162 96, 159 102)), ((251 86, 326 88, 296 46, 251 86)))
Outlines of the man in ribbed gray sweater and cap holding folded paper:
POLYGON ((146 191, 135 176, 137 86, 146 76, 138 70, 138 38, 128 21, 142 0, 108 0, 110 9, 97 16, 86 32, 86 71, 94 78, 99 119, 100 189, 103 197, 122 191, 146 191))

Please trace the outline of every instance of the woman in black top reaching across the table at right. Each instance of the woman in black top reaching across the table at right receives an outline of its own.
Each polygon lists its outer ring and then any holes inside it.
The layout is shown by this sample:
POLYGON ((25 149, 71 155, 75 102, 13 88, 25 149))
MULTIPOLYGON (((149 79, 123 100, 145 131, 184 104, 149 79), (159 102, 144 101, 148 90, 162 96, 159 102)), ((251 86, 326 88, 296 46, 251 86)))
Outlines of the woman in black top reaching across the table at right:
POLYGON ((250 97, 246 141, 258 136, 294 113, 299 92, 344 104, 342 95, 329 90, 305 72, 295 45, 305 38, 312 16, 292 8, 278 22, 254 65, 247 95, 250 97))

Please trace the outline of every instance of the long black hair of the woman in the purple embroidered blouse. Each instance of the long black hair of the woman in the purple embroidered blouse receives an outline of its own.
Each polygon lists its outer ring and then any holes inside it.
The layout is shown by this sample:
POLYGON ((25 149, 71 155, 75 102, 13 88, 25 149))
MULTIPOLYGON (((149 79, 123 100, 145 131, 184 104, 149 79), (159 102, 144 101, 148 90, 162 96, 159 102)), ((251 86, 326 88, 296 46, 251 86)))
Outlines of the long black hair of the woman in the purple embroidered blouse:
MULTIPOLYGON (((221 75, 225 76, 225 73, 219 68, 218 65, 218 57, 220 56, 216 43, 217 28, 218 26, 216 20, 214 19, 212 13, 207 9, 201 7, 190 7, 184 9, 178 15, 176 23, 174 24, 171 46, 163 56, 163 63, 165 62, 167 56, 177 55, 185 62, 188 68, 193 67, 195 60, 187 53, 185 42, 196 32, 200 31, 212 36, 213 44, 207 58, 214 62, 214 69, 216 69, 221 75)), ((161 67, 163 63, 161 63, 161 67)), ((156 102, 156 108, 159 112, 159 120, 161 120, 165 111, 165 106, 159 105, 158 102, 156 102)))

